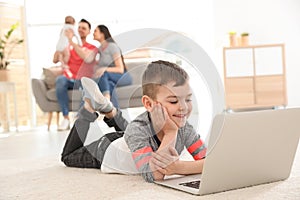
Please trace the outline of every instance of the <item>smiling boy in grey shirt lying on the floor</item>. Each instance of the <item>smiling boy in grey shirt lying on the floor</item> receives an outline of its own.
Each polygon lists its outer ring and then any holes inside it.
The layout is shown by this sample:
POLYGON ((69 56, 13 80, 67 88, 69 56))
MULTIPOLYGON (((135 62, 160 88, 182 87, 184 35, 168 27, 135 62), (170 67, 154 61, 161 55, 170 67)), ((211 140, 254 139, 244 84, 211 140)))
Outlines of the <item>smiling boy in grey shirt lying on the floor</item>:
POLYGON ((114 163, 114 167, 120 169, 121 173, 138 172, 146 181, 153 182, 163 179, 165 175, 202 172, 206 147, 187 122, 192 111, 192 93, 188 75, 183 69, 174 63, 161 60, 148 65, 142 78, 142 102, 147 111, 129 124, 122 117, 122 113, 102 96, 94 81, 87 78, 82 78, 81 81, 85 104, 79 111, 79 119, 66 142, 67 146, 73 140, 74 144, 77 143, 77 149, 65 151, 65 146, 62 154, 62 161, 67 166, 102 169, 101 165, 106 158, 114 156, 109 147, 125 139, 132 155, 130 157, 124 151, 127 159, 123 159, 122 163, 114 163), (114 126, 118 132, 106 134, 90 145, 83 146, 81 141, 86 138, 88 124, 97 118, 95 110, 104 113, 104 121, 109 126, 114 126), (80 138, 82 140, 78 141, 80 138), (184 147, 195 161, 178 159, 184 147), (75 158, 70 152, 75 152, 75 158))

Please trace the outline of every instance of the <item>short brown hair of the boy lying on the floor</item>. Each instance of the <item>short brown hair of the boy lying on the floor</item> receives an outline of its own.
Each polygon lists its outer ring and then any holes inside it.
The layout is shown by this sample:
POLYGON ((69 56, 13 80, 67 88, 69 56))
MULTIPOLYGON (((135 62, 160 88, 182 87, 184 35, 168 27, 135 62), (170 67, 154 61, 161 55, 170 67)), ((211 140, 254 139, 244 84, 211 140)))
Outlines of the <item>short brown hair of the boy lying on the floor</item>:
POLYGON ((175 82, 174 86, 181 86, 189 79, 184 69, 175 63, 158 60, 151 62, 142 78, 143 95, 156 99, 159 86, 175 82))

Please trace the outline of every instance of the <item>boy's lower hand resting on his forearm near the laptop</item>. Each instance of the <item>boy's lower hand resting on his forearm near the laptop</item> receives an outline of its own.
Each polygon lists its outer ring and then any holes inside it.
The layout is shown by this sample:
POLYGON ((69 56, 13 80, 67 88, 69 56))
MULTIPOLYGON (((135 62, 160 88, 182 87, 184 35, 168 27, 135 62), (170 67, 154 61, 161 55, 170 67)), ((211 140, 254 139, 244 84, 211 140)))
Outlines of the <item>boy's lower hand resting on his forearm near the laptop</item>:
POLYGON ((161 174, 172 175, 176 174, 176 166, 179 162, 179 155, 174 147, 170 147, 168 152, 155 152, 151 159, 154 168, 161 174))

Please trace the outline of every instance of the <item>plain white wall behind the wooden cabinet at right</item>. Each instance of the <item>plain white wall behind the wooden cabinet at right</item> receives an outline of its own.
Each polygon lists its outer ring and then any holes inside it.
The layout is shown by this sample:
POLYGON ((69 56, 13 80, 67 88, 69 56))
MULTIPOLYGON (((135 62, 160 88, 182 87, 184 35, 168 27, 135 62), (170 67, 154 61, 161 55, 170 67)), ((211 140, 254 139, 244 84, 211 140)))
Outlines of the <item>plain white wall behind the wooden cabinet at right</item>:
POLYGON ((284 43, 288 105, 300 106, 299 11, 299 0, 214 0, 215 63, 220 73, 229 31, 249 32, 251 44, 284 43))

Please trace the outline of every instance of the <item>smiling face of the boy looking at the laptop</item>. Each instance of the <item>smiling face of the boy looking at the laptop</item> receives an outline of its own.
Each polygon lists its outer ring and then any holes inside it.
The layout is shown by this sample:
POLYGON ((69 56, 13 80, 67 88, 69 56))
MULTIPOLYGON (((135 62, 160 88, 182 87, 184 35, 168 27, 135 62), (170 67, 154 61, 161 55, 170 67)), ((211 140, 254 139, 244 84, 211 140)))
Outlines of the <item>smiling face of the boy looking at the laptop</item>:
POLYGON ((156 101, 166 108, 178 127, 183 127, 192 111, 192 91, 189 82, 174 87, 174 82, 159 86, 156 101))

